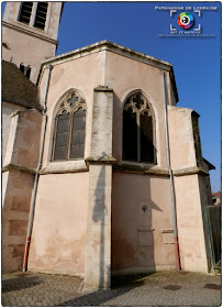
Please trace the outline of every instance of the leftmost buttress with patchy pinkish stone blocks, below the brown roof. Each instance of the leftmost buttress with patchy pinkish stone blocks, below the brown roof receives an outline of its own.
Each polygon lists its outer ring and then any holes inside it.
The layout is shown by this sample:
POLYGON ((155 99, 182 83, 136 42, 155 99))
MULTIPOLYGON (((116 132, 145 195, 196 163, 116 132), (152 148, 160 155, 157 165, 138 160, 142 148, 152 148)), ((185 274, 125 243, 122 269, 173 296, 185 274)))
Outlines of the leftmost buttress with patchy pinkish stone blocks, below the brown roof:
POLYGON ((9 132, 7 120, 4 129, 8 142, 2 177, 2 268, 10 272, 22 267, 34 173, 40 154, 42 114, 34 109, 15 112, 10 118, 9 132))

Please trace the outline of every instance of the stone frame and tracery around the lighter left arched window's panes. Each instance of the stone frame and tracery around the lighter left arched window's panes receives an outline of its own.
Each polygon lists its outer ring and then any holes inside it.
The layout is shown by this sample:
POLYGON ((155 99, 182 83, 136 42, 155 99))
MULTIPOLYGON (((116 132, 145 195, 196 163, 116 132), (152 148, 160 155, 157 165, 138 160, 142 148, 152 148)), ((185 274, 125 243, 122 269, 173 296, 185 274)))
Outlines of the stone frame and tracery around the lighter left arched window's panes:
POLYGON ((51 146, 51 163, 66 163, 66 162, 71 162, 71 161, 82 161, 85 160, 85 151, 86 151, 86 131, 87 131, 87 103, 86 99, 76 89, 70 89, 68 90, 60 99, 59 103, 57 105, 56 112, 54 113, 54 119, 53 119, 53 142, 51 146), (71 103, 68 102, 68 100, 73 97, 76 96, 78 98, 77 102, 75 102, 75 106, 71 106, 71 103), (70 155, 70 145, 71 145, 71 129, 73 129, 73 122, 74 122, 74 114, 77 112, 79 109, 83 109, 86 111, 86 117, 85 117, 85 148, 83 148, 83 157, 78 157, 78 158, 70 158, 68 157, 67 160, 54 160, 54 154, 55 154, 55 141, 56 141, 56 134, 57 134, 57 123, 58 123, 58 116, 60 116, 64 111, 67 111, 70 113, 70 120, 69 120, 69 136, 68 136, 68 152, 67 155, 70 155))

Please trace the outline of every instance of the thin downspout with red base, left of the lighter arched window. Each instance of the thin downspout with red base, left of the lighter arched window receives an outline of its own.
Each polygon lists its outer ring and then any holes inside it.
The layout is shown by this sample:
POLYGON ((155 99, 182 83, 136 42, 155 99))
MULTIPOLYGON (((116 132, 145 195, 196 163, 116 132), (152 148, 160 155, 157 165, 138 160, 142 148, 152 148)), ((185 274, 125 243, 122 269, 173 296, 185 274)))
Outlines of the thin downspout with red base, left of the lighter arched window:
POLYGON ((38 166, 37 166, 37 169, 35 173, 34 187, 33 187, 33 194, 32 194, 32 200, 31 200, 31 210, 30 210, 30 218, 29 218, 29 226, 27 226, 27 238, 26 238, 25 253, 24 253, 24 260, 23 260, 23 272, 26 272, 26 270, 27 270, 27 256, 29 256, 31 234, 32 234, 32 228, 33 228, 33 217, 34 217, 35 200, 36 200, 36 193, 37 193, 37 185, 38 185, 38 173, 42 167, 44 141, 45 141, 45 133, 46 133, 46 123, 47 123, 46 98, 47 98, 51 72, 52 72, 53 66, 51 64, 48 64, 46 66, 46 68, 48 68, 48 76, 47 76, 47 80, 46 80, 46 89, 45 89, 45 94, 44 94, 43 111, 42 111, 42 114, 44 117, 44 123, 43 123, 42 138, 41 138, 41 151, 40 151, 38 166))

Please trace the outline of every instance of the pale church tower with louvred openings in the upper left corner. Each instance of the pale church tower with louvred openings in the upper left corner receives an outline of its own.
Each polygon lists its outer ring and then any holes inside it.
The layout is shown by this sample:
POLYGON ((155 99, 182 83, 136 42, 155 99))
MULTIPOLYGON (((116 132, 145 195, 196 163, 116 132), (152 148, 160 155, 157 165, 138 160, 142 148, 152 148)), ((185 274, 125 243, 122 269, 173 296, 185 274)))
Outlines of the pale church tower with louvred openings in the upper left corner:
POLYGON ((41 63, 55 56, 63 2, 7 2, 2 59, 14 63, 34 84, 41 63))

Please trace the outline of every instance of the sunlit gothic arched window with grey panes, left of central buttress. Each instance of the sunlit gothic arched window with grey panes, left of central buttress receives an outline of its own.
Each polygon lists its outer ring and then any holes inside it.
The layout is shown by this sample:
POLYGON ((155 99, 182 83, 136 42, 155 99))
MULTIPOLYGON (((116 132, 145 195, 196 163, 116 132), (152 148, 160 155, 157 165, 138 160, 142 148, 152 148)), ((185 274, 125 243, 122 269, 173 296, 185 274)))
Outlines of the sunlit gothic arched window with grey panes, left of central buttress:
POLYGON ((52 161, 83 158, 86 111, 86 101, 76 91, 63 99, 55 119, 52 161))

